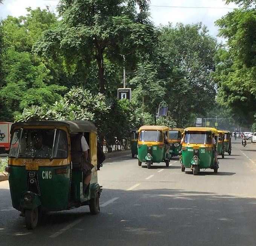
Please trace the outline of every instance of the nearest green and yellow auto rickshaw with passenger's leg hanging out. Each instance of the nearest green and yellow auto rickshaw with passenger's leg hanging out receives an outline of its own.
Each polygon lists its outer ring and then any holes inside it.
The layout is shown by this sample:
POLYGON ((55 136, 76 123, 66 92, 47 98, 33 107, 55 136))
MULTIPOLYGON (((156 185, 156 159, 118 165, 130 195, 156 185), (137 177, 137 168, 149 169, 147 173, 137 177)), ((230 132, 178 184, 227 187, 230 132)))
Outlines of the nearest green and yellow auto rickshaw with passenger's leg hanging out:
POLYGON ((34 229, 40 214, 47 211, 89 205, 91 214, 99 213, 102 189, 97 178, 96 134, 96 127, 89 121, 38 121, 12 125, 6 171, 12 205, 25 217, 27 229, 34 229), (74 150, 72 147, 81 147, 80 135, 84 135, 90 148, 86 152, 88 161, 85 161, 90 165, 89 171, 91 169, 86 193, 82 171, 85 152, 82 148, 74 150))

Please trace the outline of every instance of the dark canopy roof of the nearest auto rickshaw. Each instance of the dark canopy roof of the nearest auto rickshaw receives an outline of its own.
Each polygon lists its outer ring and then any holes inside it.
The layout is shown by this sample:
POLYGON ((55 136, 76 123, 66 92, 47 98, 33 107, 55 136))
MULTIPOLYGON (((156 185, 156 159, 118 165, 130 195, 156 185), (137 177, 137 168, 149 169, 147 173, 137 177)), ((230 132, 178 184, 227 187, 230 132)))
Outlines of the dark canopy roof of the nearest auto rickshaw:
POLYGON ((12 124, 11 132, 14 128, 18 127, 38 127, 38 126, 66 126, 69 128, 70 132, 94 132, 97 133, 96 126, 87 120, 61 120, 61 121, 54 121, 54 120, 46 120, 46 121, 26 121, 26 122, 17 122, 12 124))

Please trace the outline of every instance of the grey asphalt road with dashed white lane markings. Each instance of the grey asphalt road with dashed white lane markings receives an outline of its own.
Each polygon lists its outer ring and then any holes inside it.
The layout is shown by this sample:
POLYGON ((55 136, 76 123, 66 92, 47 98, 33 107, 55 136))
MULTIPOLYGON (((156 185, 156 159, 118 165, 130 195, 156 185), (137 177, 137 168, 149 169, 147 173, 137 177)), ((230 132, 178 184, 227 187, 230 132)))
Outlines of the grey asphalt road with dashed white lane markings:
POLYGON ((0 245, 255 246, 256 145, 236 140, 219 162, 218 174, 193 176, 178 159, 146 169, 130 156, 113 158, 99 172, 100 214, 88 207, 49 213, 34 231, 0 182, 0 245))

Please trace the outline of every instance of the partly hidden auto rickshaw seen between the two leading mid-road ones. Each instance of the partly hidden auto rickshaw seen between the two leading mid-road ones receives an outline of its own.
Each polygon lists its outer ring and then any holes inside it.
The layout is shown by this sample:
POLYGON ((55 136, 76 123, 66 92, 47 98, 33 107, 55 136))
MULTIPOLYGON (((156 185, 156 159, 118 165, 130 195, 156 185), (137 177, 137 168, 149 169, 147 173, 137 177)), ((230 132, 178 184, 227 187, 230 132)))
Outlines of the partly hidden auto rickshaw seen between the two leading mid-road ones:
POLYGON ((172 158, 172 156, 178 156, 180 155, 181 150, 181 138, 182 134, 184 132, 184 129, 182 128, 169 128, 169 153, 172 158))

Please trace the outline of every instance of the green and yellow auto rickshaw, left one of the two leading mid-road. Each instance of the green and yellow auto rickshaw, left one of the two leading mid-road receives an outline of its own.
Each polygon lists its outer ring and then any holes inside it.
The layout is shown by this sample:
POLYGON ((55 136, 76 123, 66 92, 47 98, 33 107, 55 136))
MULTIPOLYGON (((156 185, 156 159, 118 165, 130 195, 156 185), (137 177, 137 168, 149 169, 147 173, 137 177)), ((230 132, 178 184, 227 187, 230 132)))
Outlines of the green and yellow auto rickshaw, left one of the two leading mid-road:
POLYGON ((139 129, 138 164, 146 162, 148 169, 155 162, 165 162, 169 167, 169 143, 167 126, 142 126, 139 129))

